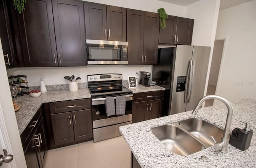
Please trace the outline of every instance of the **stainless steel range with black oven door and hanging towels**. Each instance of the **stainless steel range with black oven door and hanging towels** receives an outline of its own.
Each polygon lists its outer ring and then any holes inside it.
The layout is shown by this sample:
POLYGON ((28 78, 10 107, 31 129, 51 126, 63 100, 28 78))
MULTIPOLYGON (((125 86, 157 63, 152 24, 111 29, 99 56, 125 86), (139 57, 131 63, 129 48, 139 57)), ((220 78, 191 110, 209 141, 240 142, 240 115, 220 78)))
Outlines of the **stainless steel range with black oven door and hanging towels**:
POLYGON ((132 123, 132 91, 122 86, 122 74, 88 75, 87 79, 88 89, 92 95, 94 142, 120 136, 119 126, 132 123), (109 115, 106 105, 112 105, 113 110, 116 106, 119 107, 120 101, 116 100, 121 98, 124 113, 119 115, 114 112, 109 115), (112 104, 107 100, 113 100, 112 104))

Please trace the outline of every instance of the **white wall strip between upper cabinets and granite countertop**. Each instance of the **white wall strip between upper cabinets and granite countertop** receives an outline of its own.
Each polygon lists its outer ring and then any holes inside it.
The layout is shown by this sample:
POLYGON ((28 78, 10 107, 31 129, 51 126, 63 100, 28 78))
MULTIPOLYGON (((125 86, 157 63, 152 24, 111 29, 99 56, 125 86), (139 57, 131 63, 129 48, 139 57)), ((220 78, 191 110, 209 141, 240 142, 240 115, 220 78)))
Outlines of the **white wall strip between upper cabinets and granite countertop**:
POLYGON ((81 77, 79 82, 87 82, 87 75, 100 73, 122 73, 123 80, 128 76, 136 76, 136 72, 152 72, 152 65, 88 65, 87 67, 45 67, 45 68, 16 68, 8 70, 8 75, 27 75, 28 86, 39 86, 40 76, 45 75, 46 85, 68 83, 64 76, 81 77))

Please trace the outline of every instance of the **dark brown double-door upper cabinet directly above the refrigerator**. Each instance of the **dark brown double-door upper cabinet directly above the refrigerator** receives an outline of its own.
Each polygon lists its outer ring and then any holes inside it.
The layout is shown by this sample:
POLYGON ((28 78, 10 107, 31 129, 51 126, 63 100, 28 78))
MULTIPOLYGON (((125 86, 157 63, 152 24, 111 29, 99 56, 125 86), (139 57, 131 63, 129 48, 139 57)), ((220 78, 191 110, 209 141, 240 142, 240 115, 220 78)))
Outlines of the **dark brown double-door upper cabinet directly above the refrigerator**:
POLYGON ((166 28, 159 31, 159 43, 191 45, 194 20, 168 16, 166 28))

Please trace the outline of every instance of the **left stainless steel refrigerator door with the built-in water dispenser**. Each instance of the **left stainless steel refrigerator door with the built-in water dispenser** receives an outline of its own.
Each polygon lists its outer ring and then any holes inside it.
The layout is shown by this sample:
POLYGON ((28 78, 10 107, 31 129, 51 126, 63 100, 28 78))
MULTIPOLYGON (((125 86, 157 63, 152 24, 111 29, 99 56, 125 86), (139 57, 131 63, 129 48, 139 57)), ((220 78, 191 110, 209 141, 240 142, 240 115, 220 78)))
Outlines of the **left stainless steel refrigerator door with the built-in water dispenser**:
MULTIPOLYGON (((184 103, 185 92, 176 92, 178 76, 186 76, 190 60, 192 59, 193 46, 177 45, 175 54, 175 67, 171 97, 170 114, 176 114, 186 111, 186 103, 184 103)), ((187 83, 186 83, 187 84, 187 83)))

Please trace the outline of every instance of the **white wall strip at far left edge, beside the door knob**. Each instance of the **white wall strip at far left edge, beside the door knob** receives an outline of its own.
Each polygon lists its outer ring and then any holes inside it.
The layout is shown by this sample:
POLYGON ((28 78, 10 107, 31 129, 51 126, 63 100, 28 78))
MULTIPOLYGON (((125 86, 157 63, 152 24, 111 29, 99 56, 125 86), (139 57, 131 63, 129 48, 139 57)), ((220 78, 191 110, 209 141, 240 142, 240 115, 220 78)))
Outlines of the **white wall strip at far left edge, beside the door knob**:
MULTIPOLYGON (((2 23, 0 23, 2 24, 2 23)), ((1 40, 0 40, 1 44, 1 40)), ((6 127, 2 128, 1 132, 6 133, 7 136, 10 138, 10 146, 11 149, 8 148, 8 145, 3 146, 8 150, 9 154, 14 155, 14 162, 11 162, 12 166, 14 167, 16 163, 17 168, 26 168, 26 162, 24 158, 23 148, 20 141, 20 134, 18 131, 18 125, 16 121, 16 116, 14 112, 14 108, 12 105, 12 98, 10 93, 10 87, 8 84, 8 78, 6 73, 6 67, 4 62, 4 54, 2 50, 2 45, 0 45, 0 122, 1 125, 5 125, 6 127), (1 114, 2 111, 2 114, 1 114)), ((1 135, 2 136, 2 135, 1 135)), ((4 143, 4 142, 0 142, 4 143)), ((8 142, 6 142, 8 143, 8 142)), ((0 154, 3 154, 0 151, 0 154)), ((9 166, 10 166, 9 164, 9 166)))

